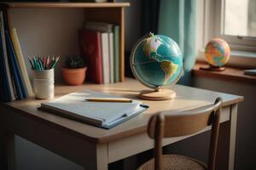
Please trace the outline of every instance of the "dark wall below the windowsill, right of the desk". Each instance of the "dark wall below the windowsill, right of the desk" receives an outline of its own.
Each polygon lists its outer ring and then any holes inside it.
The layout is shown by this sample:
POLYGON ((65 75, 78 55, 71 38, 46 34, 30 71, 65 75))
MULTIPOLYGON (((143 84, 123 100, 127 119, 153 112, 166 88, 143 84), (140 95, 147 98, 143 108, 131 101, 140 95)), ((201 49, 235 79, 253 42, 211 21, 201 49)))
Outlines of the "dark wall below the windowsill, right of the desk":
POLYGON ((196 88, 244 96, 238 105, 235 169, 256 169, 256 86, 246 82, 195 77, 196 88))

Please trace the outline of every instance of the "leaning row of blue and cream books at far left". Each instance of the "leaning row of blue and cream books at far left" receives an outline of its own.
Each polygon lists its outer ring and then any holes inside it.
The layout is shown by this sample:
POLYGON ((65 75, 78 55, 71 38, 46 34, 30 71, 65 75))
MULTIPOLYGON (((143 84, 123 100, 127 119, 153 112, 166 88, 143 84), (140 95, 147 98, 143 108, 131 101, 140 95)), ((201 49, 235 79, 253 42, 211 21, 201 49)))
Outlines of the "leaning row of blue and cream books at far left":
POLYGON ((0 8, 0 98, 2 102, 32 96, 20 42, 15 28, 9 29, 7 9, 0 8))

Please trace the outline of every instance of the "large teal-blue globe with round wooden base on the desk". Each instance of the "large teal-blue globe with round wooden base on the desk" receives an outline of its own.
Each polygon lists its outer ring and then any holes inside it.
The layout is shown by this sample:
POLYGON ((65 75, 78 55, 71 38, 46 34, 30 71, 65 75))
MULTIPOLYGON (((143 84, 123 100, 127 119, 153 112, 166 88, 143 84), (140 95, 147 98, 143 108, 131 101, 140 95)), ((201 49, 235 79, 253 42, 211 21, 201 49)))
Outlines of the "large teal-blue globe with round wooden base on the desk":
POLYGON ((177 43, 170 37, 149 33, 141 37, 131 51, 131 71, 139 82, 153 90, 143 90, 142 99, 173 99, 170 88, 183 71, 183 57, 177 43))

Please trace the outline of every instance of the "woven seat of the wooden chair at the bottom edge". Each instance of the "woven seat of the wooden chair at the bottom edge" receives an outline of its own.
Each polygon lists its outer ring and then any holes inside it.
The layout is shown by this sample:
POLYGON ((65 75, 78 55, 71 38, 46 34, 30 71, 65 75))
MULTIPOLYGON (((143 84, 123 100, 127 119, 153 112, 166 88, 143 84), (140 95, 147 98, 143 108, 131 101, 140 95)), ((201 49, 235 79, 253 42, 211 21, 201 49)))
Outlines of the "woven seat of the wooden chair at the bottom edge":
MULTIPOLYGON (((201 161, 177 155, 163 155, 161 157, 163 170, 206 170, 207 166, 201 161)), ((153 170, 154 159, 145 162, 137 170, 153 170)))

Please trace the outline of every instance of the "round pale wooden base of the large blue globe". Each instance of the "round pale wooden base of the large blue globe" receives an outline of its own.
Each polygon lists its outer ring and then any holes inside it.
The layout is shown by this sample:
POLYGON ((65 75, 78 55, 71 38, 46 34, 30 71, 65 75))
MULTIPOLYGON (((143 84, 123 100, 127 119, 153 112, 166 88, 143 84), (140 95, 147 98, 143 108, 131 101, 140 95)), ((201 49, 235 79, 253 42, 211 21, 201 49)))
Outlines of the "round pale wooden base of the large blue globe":
POLYGON ((170 89, 161 89, 160 91, 143 90, 139 94, 139 98, 148 100, 166 100, 174 99, 175 97, 176 93, 170 89))

